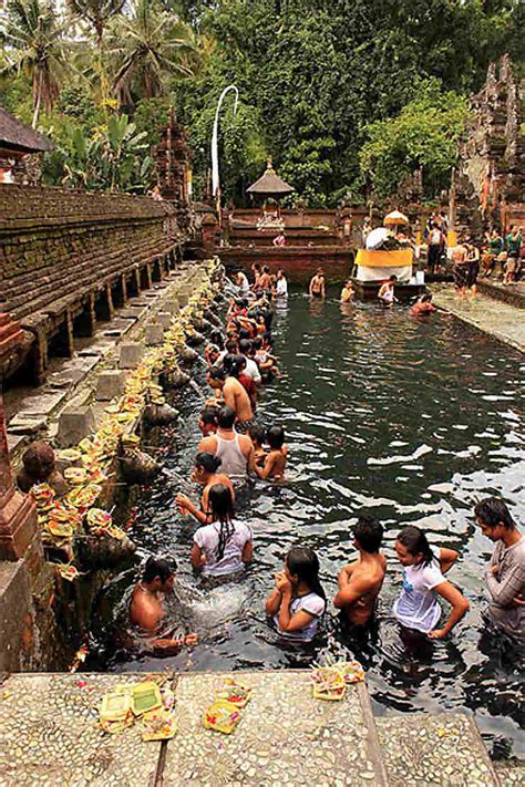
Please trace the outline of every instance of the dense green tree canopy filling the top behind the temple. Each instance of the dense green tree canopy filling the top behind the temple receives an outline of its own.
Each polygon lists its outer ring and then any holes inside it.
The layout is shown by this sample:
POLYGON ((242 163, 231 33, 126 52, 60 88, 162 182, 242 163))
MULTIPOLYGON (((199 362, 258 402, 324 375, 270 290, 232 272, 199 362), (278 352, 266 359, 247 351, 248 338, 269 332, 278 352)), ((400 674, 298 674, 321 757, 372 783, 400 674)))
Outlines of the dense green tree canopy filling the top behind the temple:
MULTIPOLYGON (((8 0, 8 14, 31 4, 42 14, 50 8, 47 0, 8 0)), ((53 8, 55 44, 74 42, 79 74, 66 77, 53 69, 43 131, 64 137, 63 126, 74 123, 87 138, 96 136, 93 120, 75 118, 74 106, 68 106, 64 96, 73 91, 92 103, 85 118, 96 116, 106 125, 109 114, 126 114, 154 144, 173 104, 189 133, 200 196, 216 102, 235 83, 239 111, 234 117, 229 99, 225 102, 220 172, 223 194, 237 203, 246 199, 246 187, 268 155, 295 186, 295 198, 312 206, 336 205, 344 195, 361 199, 366 185, 377 195, 392 194, 413 166, 423 166, 431 195, 454 164, 467 95, 481 86, 491 61, 504 52, 516 62, 522 56, 518 0, 134 0, 122 8, 119 0, 70 0, 69 6, 87 24, 68 39, 64 12, 53 8), (100 90, 101 80, 107 90, 100 90)), ((8 61, 14 49, 7 41, 8 61)), ((22 77, 3 73, 8 108, 23 118, 22 77)), ((31 70, 23 74, 32 80, 31 70)))

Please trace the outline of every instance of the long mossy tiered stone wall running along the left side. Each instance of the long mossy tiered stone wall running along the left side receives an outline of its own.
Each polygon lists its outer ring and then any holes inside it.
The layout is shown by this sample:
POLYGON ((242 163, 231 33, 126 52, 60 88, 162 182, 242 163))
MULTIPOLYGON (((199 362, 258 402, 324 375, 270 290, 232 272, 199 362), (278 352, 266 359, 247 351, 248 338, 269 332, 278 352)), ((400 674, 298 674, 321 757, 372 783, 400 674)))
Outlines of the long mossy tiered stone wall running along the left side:
POLYGON ((175 208, 147 197, 0 185, 0 312, 23 330, 6 377, 28 362, 45 379, 50 342, 71 355, 73 333, 92 335, 128 292, 162 278, 182 242, 175 208))

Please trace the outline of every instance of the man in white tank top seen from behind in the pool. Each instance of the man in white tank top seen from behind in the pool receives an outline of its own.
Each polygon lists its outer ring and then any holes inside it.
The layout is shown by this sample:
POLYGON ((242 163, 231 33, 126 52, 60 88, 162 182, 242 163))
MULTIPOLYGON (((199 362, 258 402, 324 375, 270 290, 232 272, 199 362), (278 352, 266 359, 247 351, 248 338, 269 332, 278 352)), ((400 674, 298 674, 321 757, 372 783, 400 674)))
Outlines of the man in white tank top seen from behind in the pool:
POLYGON ((217 433, 204 437, 198 451, 217 456, 220 459, 219 472, 233 481, 240 481, 255 468, 255 452, 250 437, 238 434, 234 423, 235 411, 228 405, 220 407, 217 413, 217 433))

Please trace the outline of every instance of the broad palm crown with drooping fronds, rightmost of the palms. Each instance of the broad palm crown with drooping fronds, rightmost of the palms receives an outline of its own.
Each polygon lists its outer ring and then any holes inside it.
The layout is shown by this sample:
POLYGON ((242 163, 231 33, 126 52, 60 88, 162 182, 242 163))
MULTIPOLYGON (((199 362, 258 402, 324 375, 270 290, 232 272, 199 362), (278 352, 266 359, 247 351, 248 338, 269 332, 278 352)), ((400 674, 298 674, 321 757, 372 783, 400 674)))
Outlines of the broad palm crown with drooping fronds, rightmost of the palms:
POLYGON ((191 76, 197 59, 192 28, 152 0, 135 0, 133 15, 115 20, 107 37, 113 63, 113 89, 121 103, 132 102, 132 90, 153 99, 164 92, 168 75, 191 76))

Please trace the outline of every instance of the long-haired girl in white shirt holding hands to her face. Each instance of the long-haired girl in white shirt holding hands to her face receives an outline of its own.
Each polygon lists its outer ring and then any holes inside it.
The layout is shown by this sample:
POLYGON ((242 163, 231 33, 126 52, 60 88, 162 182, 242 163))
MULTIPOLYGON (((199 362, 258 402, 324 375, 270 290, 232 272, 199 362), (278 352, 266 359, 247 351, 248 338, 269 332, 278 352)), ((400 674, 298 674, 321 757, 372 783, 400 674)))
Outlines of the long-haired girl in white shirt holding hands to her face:
POLYGON ((327 609, 327 597, 319 581, 319 560, 308 547, 292 547, 285 570, 277 573, 276 587, 266 602, 277 631, 292 642, 310 642, 327 609))

